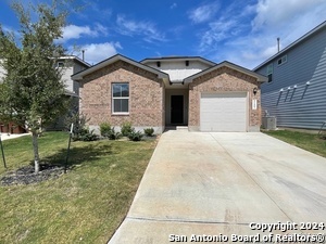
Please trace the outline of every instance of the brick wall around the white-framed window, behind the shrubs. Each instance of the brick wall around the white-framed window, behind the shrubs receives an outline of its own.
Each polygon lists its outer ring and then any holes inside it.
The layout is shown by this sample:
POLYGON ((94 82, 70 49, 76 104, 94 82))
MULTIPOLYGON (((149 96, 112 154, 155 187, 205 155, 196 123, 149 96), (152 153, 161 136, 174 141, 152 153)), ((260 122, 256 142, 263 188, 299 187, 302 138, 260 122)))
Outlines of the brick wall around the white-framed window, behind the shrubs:
POLYGON ((164 85, 155 74, 124 61, 117 61, 84 78, 79 88, 79 110, 89 126, 109 121, 120 127, 131 121, 134 127, 164 127, 164 85), (112 114, 112 82, 129 84, 129 115, 112 114))

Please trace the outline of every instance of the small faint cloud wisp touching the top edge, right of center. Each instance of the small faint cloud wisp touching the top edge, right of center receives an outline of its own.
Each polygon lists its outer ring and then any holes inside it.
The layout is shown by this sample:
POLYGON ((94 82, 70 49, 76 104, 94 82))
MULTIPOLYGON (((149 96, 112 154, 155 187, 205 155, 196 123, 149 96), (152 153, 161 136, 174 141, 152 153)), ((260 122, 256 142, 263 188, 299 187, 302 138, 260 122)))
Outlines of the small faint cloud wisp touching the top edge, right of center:
POLYGON ((210 21, 215 13, 218 11, 220 4, 217 2, 212 2, 210 4, 204 4, 201 7, 198 7, 195 10, 191 10, 188 13, 188 17, 195 23, 203 23, 210 21))

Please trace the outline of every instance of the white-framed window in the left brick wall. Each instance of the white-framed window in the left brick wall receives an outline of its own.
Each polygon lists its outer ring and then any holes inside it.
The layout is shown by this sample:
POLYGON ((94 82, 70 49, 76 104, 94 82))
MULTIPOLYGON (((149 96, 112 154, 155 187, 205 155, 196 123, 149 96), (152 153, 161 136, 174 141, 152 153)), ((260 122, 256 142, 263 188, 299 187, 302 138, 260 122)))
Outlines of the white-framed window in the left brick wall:
POLYGON ((112 111, 113 114, 129 113, 129 84, 112 85, 112 111))

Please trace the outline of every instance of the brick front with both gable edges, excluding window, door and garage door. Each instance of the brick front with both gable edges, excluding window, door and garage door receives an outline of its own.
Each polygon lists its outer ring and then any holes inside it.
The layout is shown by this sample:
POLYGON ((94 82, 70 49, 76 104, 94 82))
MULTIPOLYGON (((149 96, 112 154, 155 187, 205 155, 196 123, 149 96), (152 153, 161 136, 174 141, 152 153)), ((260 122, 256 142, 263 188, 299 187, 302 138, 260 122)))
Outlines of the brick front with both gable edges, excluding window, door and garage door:
POLYGON ((189 130, 200 130, 201 93, 246 92, 246 130, 260 130, 260 84, 266 81, 266 77, 228 62, 211 64, 211 67, 189 75, 176 85, 171 82, 170 75, 117 54, 73 76, 80 85, 79 111, 89 118, 90 129, 98 130, 100 124, 110 123, 118 130, 123 123, 130 121, 137 130, 152 127, 161 133, 165 124, 171 123, 168 100, 172 94, 181 94, 186 98, 185 125, 189 130), (112 113, 112 85, 115 82, 129 85, 128 114, 112 113), (258 88, 255 95, 254 88, 258 88), (258 101, 256 110, 252 110, 252 100, 258 101))

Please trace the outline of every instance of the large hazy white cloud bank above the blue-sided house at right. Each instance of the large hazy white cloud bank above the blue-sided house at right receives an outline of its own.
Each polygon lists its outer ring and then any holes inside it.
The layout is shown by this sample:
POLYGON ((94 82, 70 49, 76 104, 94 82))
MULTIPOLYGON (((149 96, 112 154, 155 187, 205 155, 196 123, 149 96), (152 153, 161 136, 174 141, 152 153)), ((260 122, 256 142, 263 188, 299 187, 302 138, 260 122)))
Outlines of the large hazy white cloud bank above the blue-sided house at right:
POLYGON ((227 60, 254 68, 277 53, 277 37, 284 49, 324 22, 325 15, 324 0, 259 0, 246 8, 230 5, 200 33, 199 51, 215 62, 227 60))

